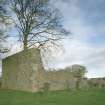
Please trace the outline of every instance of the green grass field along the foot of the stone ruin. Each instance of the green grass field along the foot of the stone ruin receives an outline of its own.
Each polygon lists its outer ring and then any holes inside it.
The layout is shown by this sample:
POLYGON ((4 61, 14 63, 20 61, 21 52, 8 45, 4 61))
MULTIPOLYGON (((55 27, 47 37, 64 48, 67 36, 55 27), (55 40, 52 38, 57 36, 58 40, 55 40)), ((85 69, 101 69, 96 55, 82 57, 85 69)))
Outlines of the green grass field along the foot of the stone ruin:
POLYGON ((105 105, 103 90, 29 93, 0 90, 0 105, 105 105))

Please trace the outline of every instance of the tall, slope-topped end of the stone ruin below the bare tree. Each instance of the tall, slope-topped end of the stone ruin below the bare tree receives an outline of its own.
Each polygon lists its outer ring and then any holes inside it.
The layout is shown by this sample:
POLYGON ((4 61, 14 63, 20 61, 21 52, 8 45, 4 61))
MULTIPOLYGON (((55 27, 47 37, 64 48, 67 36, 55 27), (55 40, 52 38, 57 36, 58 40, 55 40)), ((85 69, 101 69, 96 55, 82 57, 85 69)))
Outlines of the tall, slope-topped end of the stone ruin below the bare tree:
POLYGON ((3 60, 2 88, 37 91, 41 64, 40 51, 30 49, 3 60), (39 71, 39 72, 38 72, 39 71))

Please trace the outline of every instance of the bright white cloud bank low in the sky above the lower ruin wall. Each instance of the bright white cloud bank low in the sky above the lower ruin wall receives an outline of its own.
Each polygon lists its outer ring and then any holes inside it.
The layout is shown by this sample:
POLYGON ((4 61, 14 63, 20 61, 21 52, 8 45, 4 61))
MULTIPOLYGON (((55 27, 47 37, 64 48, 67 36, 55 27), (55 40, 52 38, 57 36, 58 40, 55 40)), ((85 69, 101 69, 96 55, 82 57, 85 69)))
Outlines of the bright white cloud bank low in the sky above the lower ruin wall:
POLYGON ((86 66, 88 77, 105 76, 105 47, 92 47, 78 40, 65 42, 65 53, 55 56, 51 67, 64 68, 72 64, 86 66))

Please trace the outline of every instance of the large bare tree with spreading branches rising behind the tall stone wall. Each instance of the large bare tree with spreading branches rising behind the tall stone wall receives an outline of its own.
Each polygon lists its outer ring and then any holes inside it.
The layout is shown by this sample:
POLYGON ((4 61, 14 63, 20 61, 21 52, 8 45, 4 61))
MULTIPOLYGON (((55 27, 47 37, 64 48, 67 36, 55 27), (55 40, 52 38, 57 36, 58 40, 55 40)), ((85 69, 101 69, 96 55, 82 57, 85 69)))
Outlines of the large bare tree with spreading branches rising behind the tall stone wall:
POLYGON ((15 13, 15 24, 24 50, 54 45, 68 35, 62 24, 61 14, 49 0, 10 0, 15 13))

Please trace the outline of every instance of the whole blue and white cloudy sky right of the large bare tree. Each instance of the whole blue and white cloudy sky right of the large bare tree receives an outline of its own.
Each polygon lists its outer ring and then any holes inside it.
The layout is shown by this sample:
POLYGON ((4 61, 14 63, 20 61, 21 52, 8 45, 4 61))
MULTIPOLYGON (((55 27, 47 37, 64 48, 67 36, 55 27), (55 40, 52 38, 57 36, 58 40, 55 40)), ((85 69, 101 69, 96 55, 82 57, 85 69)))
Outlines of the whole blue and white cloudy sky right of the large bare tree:
POLYGON ((63 25, 71 31, 72 39, 63 41, 64 50, 55 54, 50 66, 81 64, 87 67, 88 77, 105 77, 105 0, 52 0, 52 3, 62 12, 63 25))

